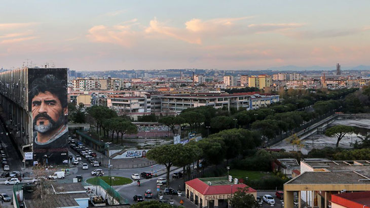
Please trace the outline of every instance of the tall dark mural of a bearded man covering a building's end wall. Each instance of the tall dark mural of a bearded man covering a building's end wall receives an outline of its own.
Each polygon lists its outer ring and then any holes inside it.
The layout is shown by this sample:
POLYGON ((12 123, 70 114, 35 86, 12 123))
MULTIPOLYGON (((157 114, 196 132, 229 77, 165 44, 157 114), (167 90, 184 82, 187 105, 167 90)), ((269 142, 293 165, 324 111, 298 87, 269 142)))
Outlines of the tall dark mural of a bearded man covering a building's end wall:
POLYGON ((34 164, 67 162, 67 68, 28 69, 28 109, 34 164))

